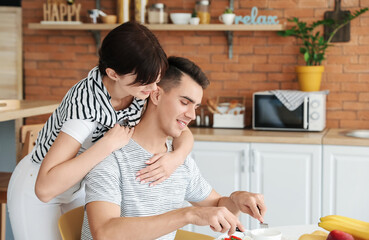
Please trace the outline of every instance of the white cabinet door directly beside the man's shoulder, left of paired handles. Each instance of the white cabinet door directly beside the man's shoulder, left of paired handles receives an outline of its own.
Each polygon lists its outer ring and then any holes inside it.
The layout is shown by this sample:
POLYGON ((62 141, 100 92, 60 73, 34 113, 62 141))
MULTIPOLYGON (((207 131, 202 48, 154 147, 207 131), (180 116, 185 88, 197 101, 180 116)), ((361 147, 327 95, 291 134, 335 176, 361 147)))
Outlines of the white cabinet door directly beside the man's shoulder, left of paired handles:
MULTIPOLYGON (((223 196, 229 196, 238 190, 248 190, 249 176, 245 156, 248 155, 247 143, 202 142, 196 141, 192 151, 192 157, 201 170, 204 178, 213 189, 223 196)), ((248 226, 247 217, 241 214, 241 222, 248 226)), ((199 227, 191 225, 187 228, 191 231, 219 236, 208 226, 199 227)))

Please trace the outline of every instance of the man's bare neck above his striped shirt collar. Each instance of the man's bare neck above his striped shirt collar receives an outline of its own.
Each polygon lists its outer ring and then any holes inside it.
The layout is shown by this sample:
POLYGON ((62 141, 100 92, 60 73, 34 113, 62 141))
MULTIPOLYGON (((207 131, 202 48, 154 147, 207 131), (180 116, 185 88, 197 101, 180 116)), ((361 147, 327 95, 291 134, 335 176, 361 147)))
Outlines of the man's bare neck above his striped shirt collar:
POLYGON ((159 126, 155 114, 146 112, 140 123, 135 127, 132 139, 152 154, 166 152, 168 136, 159 126))

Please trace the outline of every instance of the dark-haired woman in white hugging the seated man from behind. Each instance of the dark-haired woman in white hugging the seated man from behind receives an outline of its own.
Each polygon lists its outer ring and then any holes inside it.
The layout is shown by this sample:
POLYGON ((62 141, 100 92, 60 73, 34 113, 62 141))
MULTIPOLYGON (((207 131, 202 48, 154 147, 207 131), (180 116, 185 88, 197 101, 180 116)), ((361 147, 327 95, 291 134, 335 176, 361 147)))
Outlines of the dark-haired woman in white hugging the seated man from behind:
MULTIPOLYGON (((60 215, 84 204, 83 177, 127 144, 168 65, 154 34, 134 22, 109 32, 99 55, 99 65, 68 91, 12 174, 8 209, 16 240, 61 239, 60 215)), ((154 156, 137 181, 164 181, 192 145, 187 129, 174 140, 175 151, 154 156)))

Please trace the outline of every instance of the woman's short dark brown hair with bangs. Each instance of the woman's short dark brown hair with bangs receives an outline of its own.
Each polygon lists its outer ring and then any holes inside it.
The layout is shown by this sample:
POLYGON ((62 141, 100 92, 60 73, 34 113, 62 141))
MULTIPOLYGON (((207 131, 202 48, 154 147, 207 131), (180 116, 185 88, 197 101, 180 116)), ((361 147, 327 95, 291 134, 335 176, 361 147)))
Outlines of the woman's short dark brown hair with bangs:
POLYGON ((132 84, 147 85, 163 76, 167 56, 158 39, 137 22, 124 23, 104 38, 99 50, 99 69, 103 76, 112 68, 119 75, 137 74, 132 84))

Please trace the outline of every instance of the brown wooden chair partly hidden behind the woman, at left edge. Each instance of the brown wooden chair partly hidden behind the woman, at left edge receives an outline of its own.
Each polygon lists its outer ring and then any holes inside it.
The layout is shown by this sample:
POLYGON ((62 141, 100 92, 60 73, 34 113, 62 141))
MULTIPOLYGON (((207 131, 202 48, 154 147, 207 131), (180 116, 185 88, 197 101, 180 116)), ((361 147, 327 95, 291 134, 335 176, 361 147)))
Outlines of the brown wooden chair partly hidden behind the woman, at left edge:
MULTIPOLYGON (((20 142, 23 144, 21 159, 32 151, 38 136, 38 132, 42 127, 43 124, 24 125, 21 127, 20 142)), ((6 202, 8 184, 11 175, 11 172, 0 172, 0 240, 5 239, 6 202)))

